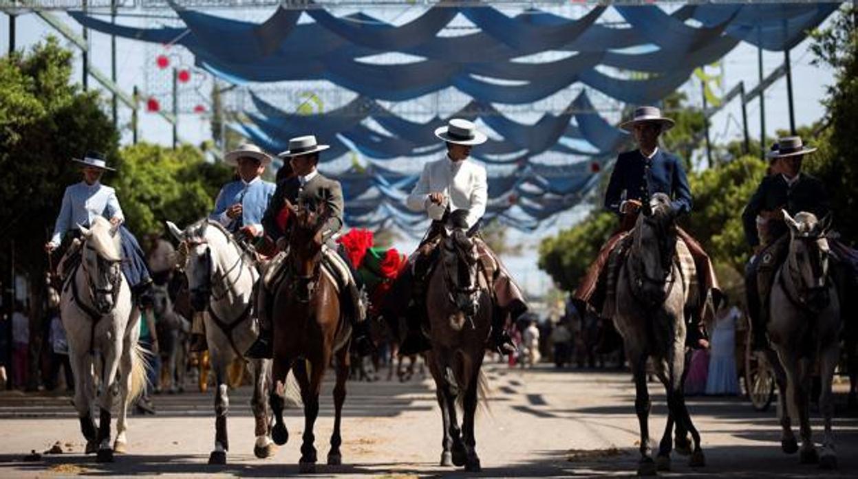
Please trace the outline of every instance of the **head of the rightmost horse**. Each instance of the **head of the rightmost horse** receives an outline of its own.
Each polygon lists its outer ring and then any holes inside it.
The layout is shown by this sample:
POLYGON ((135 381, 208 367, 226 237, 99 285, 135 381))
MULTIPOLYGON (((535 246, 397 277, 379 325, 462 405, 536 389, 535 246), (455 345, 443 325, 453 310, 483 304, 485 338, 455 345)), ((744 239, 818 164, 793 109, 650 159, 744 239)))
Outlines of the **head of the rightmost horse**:
POLYGON ((802 301, 810 308, 821 309, 828 304, 828 259, 830 249, 827 234, 831 215, 817 219, 813 213, 801 212, 795 218, 783 211, 789 226, 789 256, 787 266, 802 301))

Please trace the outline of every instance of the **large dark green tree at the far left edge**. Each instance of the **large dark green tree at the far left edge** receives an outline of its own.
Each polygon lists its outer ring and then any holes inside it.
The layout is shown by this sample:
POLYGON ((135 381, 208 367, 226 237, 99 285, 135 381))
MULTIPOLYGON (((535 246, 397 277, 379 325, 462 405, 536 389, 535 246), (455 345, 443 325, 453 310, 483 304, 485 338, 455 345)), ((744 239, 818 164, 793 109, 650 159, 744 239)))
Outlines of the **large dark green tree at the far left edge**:
POLYGON ((81 179, 70 159, 88 150, 116 157, 118 134, 98 93, 69 84, 71 57, 49 37, 27 54, 0 58, 3 241, 15 242, 19 266, 32 272, 44 270, 41 246, 65 187, 81 179))

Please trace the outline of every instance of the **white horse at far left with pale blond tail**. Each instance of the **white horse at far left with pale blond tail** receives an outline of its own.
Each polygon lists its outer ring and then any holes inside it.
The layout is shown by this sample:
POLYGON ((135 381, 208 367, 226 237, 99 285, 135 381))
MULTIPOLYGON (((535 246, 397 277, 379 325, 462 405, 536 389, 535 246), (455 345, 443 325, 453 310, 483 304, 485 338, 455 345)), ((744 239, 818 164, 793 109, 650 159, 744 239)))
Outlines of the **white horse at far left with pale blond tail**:
POLYGON ((81 263, 69 272, 60 299, 61 317, 69 340, 69 359, 75 374, 75 407, 87 438, 86 452, 98 451, 99 462, 112 462, 113 451, 126 452, 128 405, 146 386, 140 338, 140 311, 131 301, 131 290, 120 263, 119 235, 109 221, 94 219, 83 233, 81 263), (96 353, 102 367, 94 368, 96 353), (94 370, 100 370, 98 431, 93 420, 94 370), (118 374, 117 374, 118 373, 118 374), (118 390, 118 391, 117 391, 118 390), (111 406, 120 395, 117 437, 111 448, 111 406))

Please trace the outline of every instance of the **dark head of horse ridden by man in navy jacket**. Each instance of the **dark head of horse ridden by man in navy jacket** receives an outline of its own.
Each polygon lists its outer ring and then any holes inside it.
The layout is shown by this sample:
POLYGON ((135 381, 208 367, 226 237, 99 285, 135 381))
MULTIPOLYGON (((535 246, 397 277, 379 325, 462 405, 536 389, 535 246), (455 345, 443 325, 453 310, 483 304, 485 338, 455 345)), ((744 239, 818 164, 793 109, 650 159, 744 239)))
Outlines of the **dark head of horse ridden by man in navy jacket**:
POLYGON ((676 255, 676 213, 668 195, 656 193, 642 208, 634 233, 634 250, 637 288, 650 302, 664 301, 676 255))

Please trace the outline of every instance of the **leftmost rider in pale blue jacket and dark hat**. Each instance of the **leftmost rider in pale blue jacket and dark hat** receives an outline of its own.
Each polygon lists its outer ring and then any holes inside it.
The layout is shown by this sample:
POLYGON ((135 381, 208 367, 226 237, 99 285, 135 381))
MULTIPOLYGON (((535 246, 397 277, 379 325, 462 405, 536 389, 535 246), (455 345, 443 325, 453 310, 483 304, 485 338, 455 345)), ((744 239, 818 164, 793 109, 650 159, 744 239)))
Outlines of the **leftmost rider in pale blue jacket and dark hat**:
MULTIPOLYGON (((142 306, 146 296, 151 294, 152 286, 146 257, 136 237, 124 226, 125 217, 116 190, 101 184, 101 176, 105 171, 116 170, 107 166, 105 155, 99 152, 87 152, 83 158, 72 161, 82 165, 83 181, 65 189, 53 236, 45 243, 45 251, 51 254, 59 248, 67 232, 70 237, 80 237, 76 225, 89 227, 95 217, 103 216, 118 229, 122 244, 122 271, 136 303, 142 306)), ((60 272, 63 275, 70 274, 79 261, 80 245, 72 242, 60 263, 60 272)))

